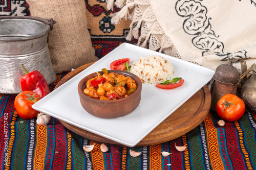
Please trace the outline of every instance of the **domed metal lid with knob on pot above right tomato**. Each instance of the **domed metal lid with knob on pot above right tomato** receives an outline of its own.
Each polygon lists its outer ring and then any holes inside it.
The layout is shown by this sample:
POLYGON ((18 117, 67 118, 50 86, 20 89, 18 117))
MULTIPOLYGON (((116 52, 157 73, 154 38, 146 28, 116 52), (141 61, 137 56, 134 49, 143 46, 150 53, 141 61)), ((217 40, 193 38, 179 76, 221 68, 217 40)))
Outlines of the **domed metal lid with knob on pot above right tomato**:
POLYGON ((224 83, 236 84, 239 80, 239 71, 232 64, 233 58, 229 60, 227 64, 221 64, 216 68, 214 78, 224 83))

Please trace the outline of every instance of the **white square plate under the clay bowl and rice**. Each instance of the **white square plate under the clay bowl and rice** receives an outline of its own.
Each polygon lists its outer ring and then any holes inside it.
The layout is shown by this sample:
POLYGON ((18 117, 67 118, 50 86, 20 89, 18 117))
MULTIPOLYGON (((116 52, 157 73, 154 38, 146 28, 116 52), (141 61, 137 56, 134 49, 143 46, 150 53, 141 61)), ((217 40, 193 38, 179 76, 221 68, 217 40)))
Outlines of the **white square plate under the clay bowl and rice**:
POLYGON ((108 55, 92 64, 78 75, 62 84, 32 107, 63 120, 66 123, 116 141, 127 147, 134 147, 165 118, 178 109, 191 96, 207 84, 214 70, 189 63, 136 45, 123 43, 108 55), (174 77, 181 77, 184 84, 176 89, 159 89, 155 85, 142 85, 141 102, 132 113, 119 118, 99 118, 85 111, 77 91, 79 81, 120 58, 130 58, 130 65, 139 57, 159 55, 172 62, 174 77))

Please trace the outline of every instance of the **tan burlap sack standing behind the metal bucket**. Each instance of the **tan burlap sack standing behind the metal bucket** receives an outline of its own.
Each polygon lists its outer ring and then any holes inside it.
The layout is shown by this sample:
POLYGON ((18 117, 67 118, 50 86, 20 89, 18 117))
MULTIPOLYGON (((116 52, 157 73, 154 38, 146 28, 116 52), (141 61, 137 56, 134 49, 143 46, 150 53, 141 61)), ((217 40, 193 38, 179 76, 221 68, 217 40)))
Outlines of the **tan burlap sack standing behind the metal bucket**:
POLYGON ((98 59, 87 29, 84 0, 27 0, 27 3, 31 16, 56 21, 48 43, 56 74, 98 59))

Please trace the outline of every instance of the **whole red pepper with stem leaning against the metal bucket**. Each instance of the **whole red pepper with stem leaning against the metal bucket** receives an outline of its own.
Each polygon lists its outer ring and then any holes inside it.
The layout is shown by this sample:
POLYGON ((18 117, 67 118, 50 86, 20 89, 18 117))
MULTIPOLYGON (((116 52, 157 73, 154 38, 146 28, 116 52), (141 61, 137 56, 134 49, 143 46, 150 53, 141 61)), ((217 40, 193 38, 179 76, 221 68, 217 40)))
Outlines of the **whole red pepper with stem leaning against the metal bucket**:
POLYGON ((44 98, 44 96, 50 93, 50 88, 47 81, 39 71, 34 70, 32 72, 28 72, 23 64, 22 68, 25 72, 25 75, 20 78, 20 86, 22 87, 22 91, 33 91, 39 94, 41 98, 44 98))

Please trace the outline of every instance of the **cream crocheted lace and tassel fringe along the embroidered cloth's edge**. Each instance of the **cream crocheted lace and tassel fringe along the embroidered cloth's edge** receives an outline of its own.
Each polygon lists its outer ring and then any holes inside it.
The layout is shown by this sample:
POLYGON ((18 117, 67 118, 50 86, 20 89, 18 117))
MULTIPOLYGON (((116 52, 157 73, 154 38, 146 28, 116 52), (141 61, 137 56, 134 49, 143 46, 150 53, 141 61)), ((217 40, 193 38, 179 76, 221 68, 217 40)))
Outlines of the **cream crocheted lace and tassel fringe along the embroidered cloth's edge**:
MULTIPOLYGON (((113 0, 106 0, 113 5, 113 0)), ((134 37, 138 39, 137 45, 141 47, 150 47, 151 50, 159 50, 162 52, 166 49, 166 46, 170 45, 169 41, 164 41, 164 44, 160 44, 158 38, 164 34, 162 26, 157 22, 157 17, 154 14, 152 6, 150 6, 150 0, 114 0, 114 4, 122 8, 119 12, 112 14, 111 22, 116 25, 120 23, 121 18, 131 19, 130 31, 126 35, 125 39, 131 41, 134 37), (143 11, 138 5, 143 5, 143 11), (129 9, 136 7, 130 14, 129 9), (147 25, 146 22, 153 23, 153 25, 147 25), (141 34, 139 29, 141 28, 141 34), (155 36, 156 35, 156 36, 155 36), (160 36, 159 36, 160 35, 160 36)), ((109 7, 111 7, 109 5, 109 7)))

